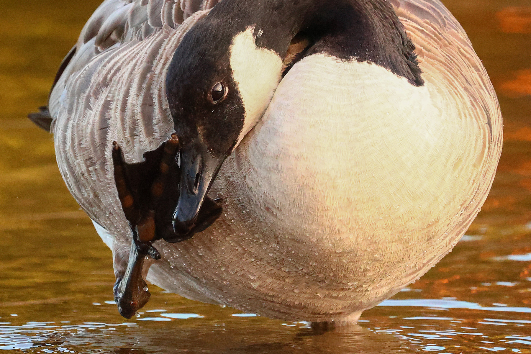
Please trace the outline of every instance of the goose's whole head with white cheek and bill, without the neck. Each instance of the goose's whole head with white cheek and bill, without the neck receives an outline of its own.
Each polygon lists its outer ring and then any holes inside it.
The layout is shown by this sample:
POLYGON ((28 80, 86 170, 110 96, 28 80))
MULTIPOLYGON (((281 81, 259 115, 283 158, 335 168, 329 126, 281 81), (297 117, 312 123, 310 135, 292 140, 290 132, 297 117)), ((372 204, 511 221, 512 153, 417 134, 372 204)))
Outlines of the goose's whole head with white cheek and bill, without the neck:
POLYGON ((280 81, 282 58, 256 46, 254 31, 227 33, 200 22, 170 63, 167 98, 181 141, 176 234, 190 232, 221 164, 258 123, 280 81))

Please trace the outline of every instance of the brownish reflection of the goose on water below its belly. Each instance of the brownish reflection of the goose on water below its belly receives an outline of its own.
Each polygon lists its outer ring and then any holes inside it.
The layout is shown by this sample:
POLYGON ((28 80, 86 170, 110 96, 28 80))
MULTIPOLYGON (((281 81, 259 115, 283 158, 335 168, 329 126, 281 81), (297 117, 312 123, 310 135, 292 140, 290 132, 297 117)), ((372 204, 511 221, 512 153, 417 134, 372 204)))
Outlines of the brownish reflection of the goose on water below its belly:
MULTIPOLYGON (((142 326, 127 329, 119 326, 113 331, 113 335, 108 335, 105 330, 102 330, 101 335, 97 331, 91 331, 90 341, 98 343, 101 351, 160 354, 395 354, 408 346, 422 346, 418 343, 423 342, 422 339, 415 339, 417 344, 412 344, 410 340, 395 334, 375 333, 357 325, 316 332, 312 329, 282 326, 279 322, 265 319, 265 323, 207 321, 184 320, 149 325, 144 322, 142 326)), ((68 346, 68 343, 86 341, 87 337, 81 331, 64 334, 62 340, 65 342, 64 347, 73 350, 75 347, 68 346)))

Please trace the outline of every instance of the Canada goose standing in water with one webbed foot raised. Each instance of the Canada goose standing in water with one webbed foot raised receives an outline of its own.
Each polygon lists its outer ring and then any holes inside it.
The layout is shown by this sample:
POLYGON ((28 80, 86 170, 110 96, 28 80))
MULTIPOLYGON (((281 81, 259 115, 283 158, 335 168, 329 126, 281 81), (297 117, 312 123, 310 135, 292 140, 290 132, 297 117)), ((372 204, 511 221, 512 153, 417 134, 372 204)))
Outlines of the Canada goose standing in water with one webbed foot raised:
POLYGON ((147 277, 356 322, 451 251, 502 144, 489 77, 438 0, 106 0, 48 107, 30 118, 113 250, 126 317, 147 277))

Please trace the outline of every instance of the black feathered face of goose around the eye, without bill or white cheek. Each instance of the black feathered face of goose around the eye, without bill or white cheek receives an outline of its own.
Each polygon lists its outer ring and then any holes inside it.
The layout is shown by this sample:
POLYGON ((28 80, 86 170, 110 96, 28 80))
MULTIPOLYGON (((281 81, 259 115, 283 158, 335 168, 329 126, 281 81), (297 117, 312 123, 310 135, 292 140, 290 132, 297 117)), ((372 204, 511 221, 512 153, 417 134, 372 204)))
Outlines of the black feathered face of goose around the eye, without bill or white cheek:
POLYGON ((204 138, 215 154, 234 147, 245 111, 230 67, 232 37, 203 19, 175 51, 166 87, 176 133, 184 146, 204 138))

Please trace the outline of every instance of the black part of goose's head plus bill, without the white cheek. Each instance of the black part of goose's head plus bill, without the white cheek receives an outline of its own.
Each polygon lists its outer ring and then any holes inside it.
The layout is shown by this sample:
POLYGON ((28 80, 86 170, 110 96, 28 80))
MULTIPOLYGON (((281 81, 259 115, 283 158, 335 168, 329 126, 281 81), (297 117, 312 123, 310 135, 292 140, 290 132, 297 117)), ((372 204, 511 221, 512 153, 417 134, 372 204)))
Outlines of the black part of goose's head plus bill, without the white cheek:
POLYGON ((245 109, 230 67, 233 36, 200 20, 184 36, 166 78, 169 108, 181 141, 177 234, 194 226, 199 208, 242 131, 245 109))

